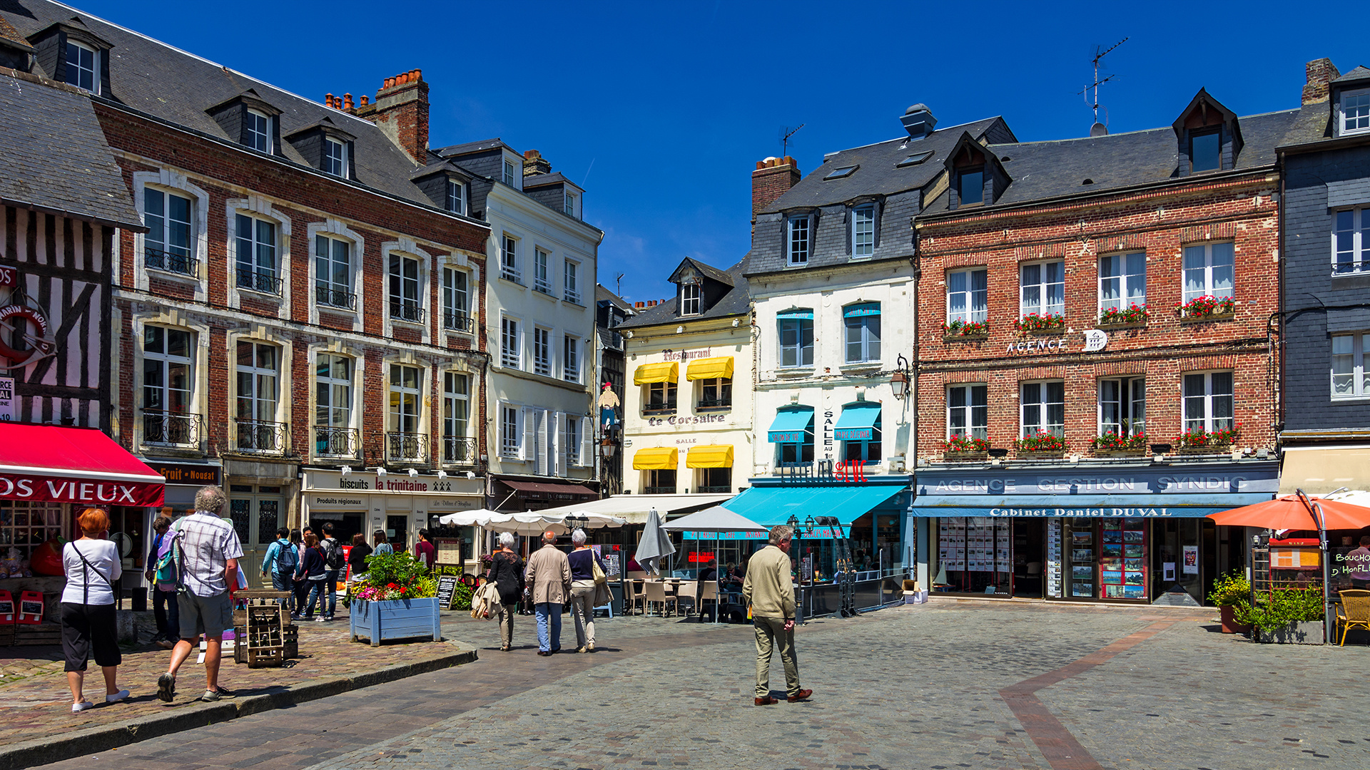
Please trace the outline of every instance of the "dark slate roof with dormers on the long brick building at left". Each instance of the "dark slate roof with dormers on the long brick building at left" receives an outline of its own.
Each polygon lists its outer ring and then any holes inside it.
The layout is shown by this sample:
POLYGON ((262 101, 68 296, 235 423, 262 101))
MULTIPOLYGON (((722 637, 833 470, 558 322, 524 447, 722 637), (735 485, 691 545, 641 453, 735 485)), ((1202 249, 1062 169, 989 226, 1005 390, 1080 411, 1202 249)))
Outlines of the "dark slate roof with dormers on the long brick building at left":
MULTIPOLYGON (((195 132, 230 140, 207 108, 253 89, 259 97, 281 111, 281 136, 329 118, 341 130, 353 134, 353 169, 356 182, 412 203, 436 208, 412 182, 415 163, 370 121, 348 115, 323 104, 275 88, 264 81, 230 70, 226 66, 179 51, 97 16, 73 11, 45 0, 8 0, 0 15, 32 36, 48 26, 70 23, 73 15, 92 33, 107 40, 110 51, 110 90, 103 95, 121 104, 195 132)), ((312 167, 288 141, 282 140, 286 160, 312 167)), ((340 179, 340 184, 347 184, 340 179)))

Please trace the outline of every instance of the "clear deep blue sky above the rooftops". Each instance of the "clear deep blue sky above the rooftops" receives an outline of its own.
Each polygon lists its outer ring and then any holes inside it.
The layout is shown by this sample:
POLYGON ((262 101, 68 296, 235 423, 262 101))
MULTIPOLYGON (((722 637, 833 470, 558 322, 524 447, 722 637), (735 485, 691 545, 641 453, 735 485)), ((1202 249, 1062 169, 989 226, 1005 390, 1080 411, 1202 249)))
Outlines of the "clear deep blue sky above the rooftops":
POLYGON ((1370 66, 1363 11, 1337 23, 1263 3, 1207 18, 1192 3, 75 4, 319 101, 422 69, 430 144, 503 137, 584 184, 599 280, 623 273, 629 300, 670 296, 685 256, 747 252, 751 170, 781 153, 781 126, 804 125, 790 155, 806 173, 901 136, 915 101, 940 126, 1003 115, 1019 140, 1085 136, 1089 59, 1123 37, 1100 97, 1115 133, 1170 125, 1199 88, 1248 115, 1297 107, 1310 59, 1370 66))

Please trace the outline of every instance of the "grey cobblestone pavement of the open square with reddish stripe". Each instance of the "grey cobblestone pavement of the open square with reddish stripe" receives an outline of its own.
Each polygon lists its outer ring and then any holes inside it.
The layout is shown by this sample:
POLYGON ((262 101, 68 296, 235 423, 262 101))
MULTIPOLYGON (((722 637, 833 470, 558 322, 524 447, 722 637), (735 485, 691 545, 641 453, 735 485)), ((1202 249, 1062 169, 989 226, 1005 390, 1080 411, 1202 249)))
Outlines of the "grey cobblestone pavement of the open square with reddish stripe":
POLYGON ((59 766, 1370 766, 1366 647, 1251 644, 1214 614, 940 600, 826 619, 796 637, 814 700, 769 707, 747 626, 615 618, 603 652, 538 658, 532 618, 510 654, 493 623, 453 619, 477 663, 59 766))

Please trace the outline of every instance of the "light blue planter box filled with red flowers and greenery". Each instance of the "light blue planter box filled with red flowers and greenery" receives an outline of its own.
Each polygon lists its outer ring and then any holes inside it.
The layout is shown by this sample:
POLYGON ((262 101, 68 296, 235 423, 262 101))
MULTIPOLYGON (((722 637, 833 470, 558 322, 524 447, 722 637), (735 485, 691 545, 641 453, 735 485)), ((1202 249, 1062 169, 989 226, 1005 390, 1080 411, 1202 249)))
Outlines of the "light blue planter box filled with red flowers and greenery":
POLYGON ((438 641, 437 580, 407 552, 373 555, 352 584, 348 618, 352 641, 367 638, 371 647, 416 636, 438 641))

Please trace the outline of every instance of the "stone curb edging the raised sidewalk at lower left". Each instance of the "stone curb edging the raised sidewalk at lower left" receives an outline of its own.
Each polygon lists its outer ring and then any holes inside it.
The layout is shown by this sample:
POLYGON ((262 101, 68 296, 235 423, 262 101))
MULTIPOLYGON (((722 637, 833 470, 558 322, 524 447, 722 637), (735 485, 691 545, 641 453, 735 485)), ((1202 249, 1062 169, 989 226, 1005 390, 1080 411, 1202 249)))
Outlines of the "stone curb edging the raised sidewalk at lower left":
POLYGON ((271 711, 273 708, 285 708, 308 700, 318 700, 321 697, 329 697, 353 689, 393 682, 396 680, 416 677, 419 674, 427 674, 430 671, 475 662, 475 647, 462 643, 452 644, 456 647, 453 652, 438 658, 430 658, 427 660, 396 663, 374 671, 362 671, 347 677, 319 677, 307 680, 279 692, 255 695, 251 697, 240 696, 230 701, 190 706, 178 708, 166 715, 145 717, 114 725, 100 725, 97 728, 75 730, 62 736, 52 736, 0 747, 0 770, 21 770, 22 767, 34 767, 38 765, 62 762, 64 759, 74 759, 77 756, 86 756, 170 733, 178 733, 181 730, 204 728, 207 725, 227 722, 229 719, 236 719, 238 717, 260 714, 262 711, 271 711))

